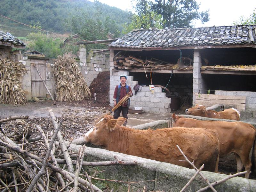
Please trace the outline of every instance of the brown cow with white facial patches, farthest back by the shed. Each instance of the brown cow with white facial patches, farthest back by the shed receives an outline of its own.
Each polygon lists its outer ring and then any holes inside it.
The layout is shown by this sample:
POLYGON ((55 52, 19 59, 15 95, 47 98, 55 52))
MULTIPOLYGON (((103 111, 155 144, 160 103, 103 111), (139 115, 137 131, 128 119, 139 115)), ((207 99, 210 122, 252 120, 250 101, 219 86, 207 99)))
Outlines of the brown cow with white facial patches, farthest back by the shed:
POLYGON ((240 113, 235 108, 225 109, 224 111, 214 111, 206 110, 205 105, 196 105, 195 107, 185 110, 186 114, 201 116, 201 117, 210 117, 217 119, 231 119, 231 120, 240 120, 240 113))

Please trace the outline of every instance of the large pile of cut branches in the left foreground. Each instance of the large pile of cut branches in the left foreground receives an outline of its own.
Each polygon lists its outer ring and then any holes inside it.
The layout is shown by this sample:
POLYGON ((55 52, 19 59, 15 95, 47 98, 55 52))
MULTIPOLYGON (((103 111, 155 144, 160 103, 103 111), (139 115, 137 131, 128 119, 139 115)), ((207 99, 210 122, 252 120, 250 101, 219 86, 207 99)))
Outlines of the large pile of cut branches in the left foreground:
POLYGON ((91 181, 97 180, 97 171, 90 177, 89 172, 82 169, 81 175, 82 165, 91 167, 136 164, 118 159, 106 162, 83 161, 85 145, 81 146, 78 152, 69 150, 73 139, 66 140, 62 137, 60 128, 63 119, 57 122, 52 110, 49 110, 49 114, 54 129, 47 132, 44 132, 46 129, 39 124, 30 126, 20 120, 28 116, 12 116, 0 120, 0 124, 15 120, 18 125, 13 130, 5 129, 3 126, 0 128, 0 191, 102 192, 91 181), (77 160, 71 160, 73 157, 77 160), (76 165, 76 169, 73 165, 76 165))

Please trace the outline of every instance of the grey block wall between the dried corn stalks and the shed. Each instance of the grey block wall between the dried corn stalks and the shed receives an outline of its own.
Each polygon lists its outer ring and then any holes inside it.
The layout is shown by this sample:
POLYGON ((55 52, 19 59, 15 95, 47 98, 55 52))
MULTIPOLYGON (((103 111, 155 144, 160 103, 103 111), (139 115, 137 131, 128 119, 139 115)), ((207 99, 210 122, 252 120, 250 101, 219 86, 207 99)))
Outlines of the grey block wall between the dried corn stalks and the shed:
POLYGON ((108 55, 104 53, 94 54, 93 50, 86 55, 86 49, 83 46, 80 47, 79 53, 79 68, 87 85, 90 85, 100 72, 109 71, 108 55))

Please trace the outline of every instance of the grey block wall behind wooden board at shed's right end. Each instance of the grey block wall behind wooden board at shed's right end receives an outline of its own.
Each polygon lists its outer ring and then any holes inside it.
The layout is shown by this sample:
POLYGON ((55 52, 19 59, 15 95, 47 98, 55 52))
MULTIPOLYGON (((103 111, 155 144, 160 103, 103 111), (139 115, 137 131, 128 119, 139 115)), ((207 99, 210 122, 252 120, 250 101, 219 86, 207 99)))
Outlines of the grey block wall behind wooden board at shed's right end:
POLYGON ((245 110, 241 111, 240 120, 256 123, 256 92, 216 90, 215 95, 245 96, 245 110))

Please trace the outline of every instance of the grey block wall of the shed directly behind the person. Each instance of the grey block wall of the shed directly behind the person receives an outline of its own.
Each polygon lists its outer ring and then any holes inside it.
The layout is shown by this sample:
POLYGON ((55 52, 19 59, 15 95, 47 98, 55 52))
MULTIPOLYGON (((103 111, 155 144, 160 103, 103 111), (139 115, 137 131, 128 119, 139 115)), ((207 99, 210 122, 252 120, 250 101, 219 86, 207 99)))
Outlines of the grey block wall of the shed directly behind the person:
MULTIPOLYGON (((120 84, 119 76, 124 74, 127 76, 126 83, 133 88, 137 81, 133 81, 133 76, 129 76, 128 71, 113 71, 114 68, 114 51, 110 50, 110 91, 109 91, 109 103, 110 106, 114 106, 113 96, 116 85, 120 84)), ((155 87, 154 93, 151 93, 149 87, 142 87, 141 91, 136 95, 133 95, 130 100, 130 107, 143 107, 144 111, 154 113, 170 113, 171 98, 166 98, 165 93, 162 92, 162 88, 155 87)), ((134 93, 134 90, 132 89, 134 93)))

